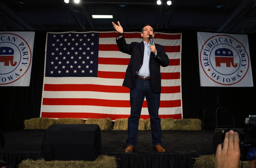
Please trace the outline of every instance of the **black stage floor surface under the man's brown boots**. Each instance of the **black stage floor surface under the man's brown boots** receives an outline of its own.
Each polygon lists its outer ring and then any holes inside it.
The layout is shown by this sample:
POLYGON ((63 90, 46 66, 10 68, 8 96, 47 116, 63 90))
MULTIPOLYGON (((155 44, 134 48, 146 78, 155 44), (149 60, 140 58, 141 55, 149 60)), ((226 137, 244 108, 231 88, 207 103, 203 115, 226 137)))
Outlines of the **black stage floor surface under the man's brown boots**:
MULTIPOLYGON (((19 130, 4 132, 3 152, 41 152, 45 130, 19 130)), ((163 147, 167 153, 213 152, 214 131, 163 130, 163 147)), ((101 153, 123 153, 126 148, 127 131, 101 131, 101 153)), ((150 130, 138 131, 134 153, 156 153, 152 147, 150 130)))

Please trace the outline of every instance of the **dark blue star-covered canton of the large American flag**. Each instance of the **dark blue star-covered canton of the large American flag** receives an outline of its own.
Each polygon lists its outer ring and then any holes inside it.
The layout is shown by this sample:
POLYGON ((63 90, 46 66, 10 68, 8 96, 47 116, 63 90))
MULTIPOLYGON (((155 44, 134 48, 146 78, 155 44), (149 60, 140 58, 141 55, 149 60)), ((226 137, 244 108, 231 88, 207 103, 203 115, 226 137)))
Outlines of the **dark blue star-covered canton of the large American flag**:
POLYGON ((97 77, 99 33, 48 33, 46 77, 97 77))

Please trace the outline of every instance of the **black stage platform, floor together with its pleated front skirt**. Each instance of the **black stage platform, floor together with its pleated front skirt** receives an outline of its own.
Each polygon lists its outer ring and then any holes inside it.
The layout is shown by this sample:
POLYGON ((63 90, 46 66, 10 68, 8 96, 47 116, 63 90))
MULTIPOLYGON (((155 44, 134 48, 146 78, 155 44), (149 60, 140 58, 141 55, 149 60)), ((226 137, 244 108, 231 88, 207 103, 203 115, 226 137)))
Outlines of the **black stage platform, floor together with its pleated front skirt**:
MULTIPOLYGON (((5 145, 0 160, 15 167, 24 159, 42 158, 41 144, 45 130, 18 130, 3 132, 5 145)), ((124 153, 127 131, 101 131, 101 154, 115 156, 122 167, 191 167, 199 155, 213 154, 214 131, 163 130, 166 153, 153 150, 150 130, 138 131, 138 142, 133 153, 124 153)))

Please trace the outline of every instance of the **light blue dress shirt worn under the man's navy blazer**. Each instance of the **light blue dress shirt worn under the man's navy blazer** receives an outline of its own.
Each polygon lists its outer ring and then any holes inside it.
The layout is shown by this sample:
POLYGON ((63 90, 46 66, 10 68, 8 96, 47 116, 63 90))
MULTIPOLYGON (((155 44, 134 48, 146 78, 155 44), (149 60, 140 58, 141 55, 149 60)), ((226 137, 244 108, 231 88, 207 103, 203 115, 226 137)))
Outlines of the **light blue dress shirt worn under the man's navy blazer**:
MULTIPOLYGON (((119 39, 122 38, 119 36, 119 39)), ((138 71, 137 75, 138 76, 145 76, 145 77, 150 77, 150 72, 149 72, 149 58, 150 58, 150 43, 146 43, 145 41, 143 41, 144 43, 144 57, 143 57, 143 64, 140 68, 140 70, 138 71)), ((156 56, 157 52, 154 54, 156 56)))

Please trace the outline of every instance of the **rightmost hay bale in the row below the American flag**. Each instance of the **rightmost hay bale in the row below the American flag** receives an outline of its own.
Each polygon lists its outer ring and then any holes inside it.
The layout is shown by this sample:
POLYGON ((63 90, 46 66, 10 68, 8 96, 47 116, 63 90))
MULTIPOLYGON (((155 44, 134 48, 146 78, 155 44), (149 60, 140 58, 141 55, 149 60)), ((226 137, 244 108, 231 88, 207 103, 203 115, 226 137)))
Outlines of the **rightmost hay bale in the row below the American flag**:
POLYGON ((176 119, 175 120, 176 130, 201 130, 202 121, 200 119, 176 119))

